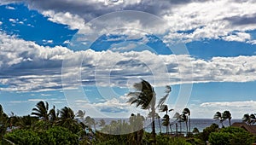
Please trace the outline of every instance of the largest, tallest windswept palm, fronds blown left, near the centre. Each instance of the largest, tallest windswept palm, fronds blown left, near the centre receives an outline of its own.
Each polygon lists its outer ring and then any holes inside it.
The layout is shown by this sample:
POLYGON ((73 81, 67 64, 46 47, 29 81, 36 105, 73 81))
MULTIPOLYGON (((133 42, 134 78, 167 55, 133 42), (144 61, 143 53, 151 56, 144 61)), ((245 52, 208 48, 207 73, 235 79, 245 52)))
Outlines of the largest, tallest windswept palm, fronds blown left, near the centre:
POLYGON ((131 96, 129 103, 136 104, 136 107, 141 107, 145 110, 150 110, 152 112, 152 135, 153 142, 155 139, 155 125, 154 125, 154 114, 155 114, 155 92, 154 88, 147 81, 143 80, 140 83, 133 85, 135 92, 130 92, 127 96, 131 96))

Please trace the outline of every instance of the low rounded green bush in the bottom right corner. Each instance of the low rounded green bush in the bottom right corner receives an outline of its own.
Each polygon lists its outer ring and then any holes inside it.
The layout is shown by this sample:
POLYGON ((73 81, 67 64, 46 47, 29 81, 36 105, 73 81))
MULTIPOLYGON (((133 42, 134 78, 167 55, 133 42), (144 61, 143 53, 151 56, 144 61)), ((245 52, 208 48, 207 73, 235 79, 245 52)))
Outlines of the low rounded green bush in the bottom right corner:
POLYGON ((250 145, 253 143, 253 136, 241 128, 227 127, 218 132, 212 132, 209 136, 209 142, 212 145, 250 145))

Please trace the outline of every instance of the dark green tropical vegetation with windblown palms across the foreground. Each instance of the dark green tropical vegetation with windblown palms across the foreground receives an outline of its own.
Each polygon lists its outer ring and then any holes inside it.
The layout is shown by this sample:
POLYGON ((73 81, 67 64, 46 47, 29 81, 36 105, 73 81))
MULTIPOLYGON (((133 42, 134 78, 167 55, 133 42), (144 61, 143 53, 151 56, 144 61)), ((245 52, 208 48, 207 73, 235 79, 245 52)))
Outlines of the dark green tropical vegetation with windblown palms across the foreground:
MULTIPOLYGON (((142 80, 142 82, 134 84, 134 87, 136 91, 128 94, 131 96, 128 102, 148 110, 148 118, 152 119, 151 133, 144 131, 145 118, 140 113, 131 113, 128 122, 113 120, 106 124, 104 119, 96 122, 95 119, 86 116, 85 111, 82 110, 74 113, 70 107, 63 107, 59 110, 55 106, 49 108, 48 102, 38 102, 32 108, 32 116, 21 117, 16 116, 15 113, 8 116, 3 112, 3 107, 0 105, 0 144, 204 145, 206 142, 210 142, 212 145, 249 145, 256 141, 255 136, 243 129, 225 128, 224 126, 220 129, 217 124, 212 124, 202 132, 198 131, 197 128, 191 132, 189 108, 184 108, 182 113, 175 113, 173 118, 176 120, 171 122, 168 112, 173 111, 173 109, 169 110, 165 104, 166 97, 172 90, 170 86, 166 86, 166 95, 160 98, 157 106, 155 104, 156 94, 151 84, 142 80), (160 112, 165 112, 162 118, 159 113, 156 113, 157 108, 160 112), (162 119, 161 122, 160 118, 162 119), (159 135, 155 133, 154 119, 158 119, 160 131, 161 125, 165 127, 165 133, 160 132, 159 135), (180 127, 179 133, 177 124, 180 127), (186 136, 182 134, 182 124, 186 126, 186 136), (100 126, 101 129, 97 131, 96 125, 100 126), (172 125, 176 127, 175 133, 172 132, 172 125)), ((230 123, 231 113, 229 111, 217 112, 213 118, 218 119, 221 124, 224 120, 229 120, 230 123)), ((243 117, 243 121, 247 125, 253 125, 255 120, 254 114, 245 114, 243 117)))

